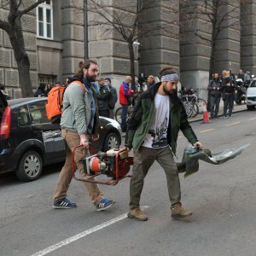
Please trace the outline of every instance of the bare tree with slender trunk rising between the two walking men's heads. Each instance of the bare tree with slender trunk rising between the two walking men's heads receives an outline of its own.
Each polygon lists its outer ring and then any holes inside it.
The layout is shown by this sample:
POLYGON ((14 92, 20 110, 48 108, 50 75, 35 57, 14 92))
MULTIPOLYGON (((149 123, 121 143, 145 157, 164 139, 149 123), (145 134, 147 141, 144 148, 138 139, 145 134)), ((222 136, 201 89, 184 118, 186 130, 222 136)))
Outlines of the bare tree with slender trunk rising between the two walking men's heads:
POLYGON ((168 27, 170 26, 170 24, 164 24, 163 22, 154 23, 154 26, 152 26, 152 23, 146 24, 144 22, 145 16, 148 9, 160 7, 161 4, 170 5, 170 0, 122 0, 113 1, 111 4, 106 0, 88 0, 87 3, 90 13, 95 14, 94 19, 90 20, 90 25, 104 26, 106 30, 114 30, 127 43, 131 61, 131 88, 134 90, 134 44, 137 44, 138 38, 145 39, 159 29, 163 29, 168 33, 168 27))

